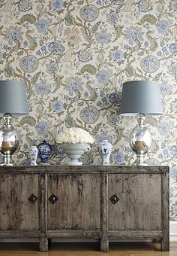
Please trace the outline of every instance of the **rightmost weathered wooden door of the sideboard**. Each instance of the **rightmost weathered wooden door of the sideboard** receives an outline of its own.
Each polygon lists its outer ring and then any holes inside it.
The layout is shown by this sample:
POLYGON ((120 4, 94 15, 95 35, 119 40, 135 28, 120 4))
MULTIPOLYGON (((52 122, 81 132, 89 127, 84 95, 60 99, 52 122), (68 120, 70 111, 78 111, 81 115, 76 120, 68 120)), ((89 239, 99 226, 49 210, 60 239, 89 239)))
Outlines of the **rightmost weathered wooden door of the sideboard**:
POLYGON ((109 198, 110 230, 161 229, 159 174, 109 175, 109 198))

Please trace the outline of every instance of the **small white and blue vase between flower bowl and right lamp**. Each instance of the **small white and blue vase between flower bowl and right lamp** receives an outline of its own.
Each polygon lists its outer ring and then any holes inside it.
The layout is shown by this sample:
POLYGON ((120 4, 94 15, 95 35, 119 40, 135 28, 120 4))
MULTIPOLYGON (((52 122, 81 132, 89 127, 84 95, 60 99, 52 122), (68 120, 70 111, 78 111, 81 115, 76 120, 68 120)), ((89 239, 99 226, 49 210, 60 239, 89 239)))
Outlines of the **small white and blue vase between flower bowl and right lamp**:
POLYGON ((102 163, 105 165, 110 164, 112 145, 107 141, 107 139, 104 139, 104 141, 100 143, 98 151, 101 154, 102 163))

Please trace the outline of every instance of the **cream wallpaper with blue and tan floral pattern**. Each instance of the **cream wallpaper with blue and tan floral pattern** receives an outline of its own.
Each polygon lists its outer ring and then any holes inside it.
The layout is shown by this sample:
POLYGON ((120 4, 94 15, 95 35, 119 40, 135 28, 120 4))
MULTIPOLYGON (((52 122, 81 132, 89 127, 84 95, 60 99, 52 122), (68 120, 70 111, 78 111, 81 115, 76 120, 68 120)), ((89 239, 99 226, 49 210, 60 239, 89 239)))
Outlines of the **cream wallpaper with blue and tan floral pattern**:
POLYGON ((158 81, 164 114, 145 121, 153 138, 145 160, 170 166, 177 220, 176 13, 176 0, 0 0, 0 79, 24 81, 28 91, 29 115, 13 119, 20 133, 13 160, 28 164, 31 145, 46 139, 49 163, 65 163, 56 138, 76 126, 95 136, 85 164, 101 163, 103 139, 113 144, 111 163, 133 163, 136 118, 119 116, 121 86, 158 81))

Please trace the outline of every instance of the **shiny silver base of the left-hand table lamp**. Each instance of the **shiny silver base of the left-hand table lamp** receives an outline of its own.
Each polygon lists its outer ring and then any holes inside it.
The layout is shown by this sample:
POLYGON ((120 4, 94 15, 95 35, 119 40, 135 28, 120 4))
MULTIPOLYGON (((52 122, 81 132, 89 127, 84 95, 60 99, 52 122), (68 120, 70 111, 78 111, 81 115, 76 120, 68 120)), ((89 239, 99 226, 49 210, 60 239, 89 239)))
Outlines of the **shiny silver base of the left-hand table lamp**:
POLYGON ((11 114, 4 114, 5 124, 0 129, 0 152, 4 154, 4 163, 1 166, 13 166, 11 155, 17 150, 19 145, 17 133, 11 125, 11 114))

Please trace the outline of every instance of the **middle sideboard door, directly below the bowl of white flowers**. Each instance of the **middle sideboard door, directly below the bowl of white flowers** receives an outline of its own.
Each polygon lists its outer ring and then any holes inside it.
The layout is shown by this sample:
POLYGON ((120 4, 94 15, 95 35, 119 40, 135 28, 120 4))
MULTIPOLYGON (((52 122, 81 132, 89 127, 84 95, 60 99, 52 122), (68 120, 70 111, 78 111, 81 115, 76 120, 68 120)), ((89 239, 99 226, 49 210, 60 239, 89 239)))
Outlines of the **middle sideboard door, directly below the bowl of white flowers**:
POLYGON ((48 175, 48 230, 100 229, 100 187, 96 174, 48 175))

